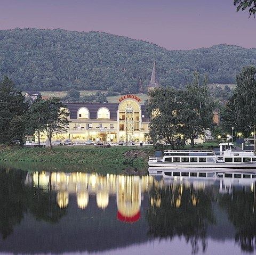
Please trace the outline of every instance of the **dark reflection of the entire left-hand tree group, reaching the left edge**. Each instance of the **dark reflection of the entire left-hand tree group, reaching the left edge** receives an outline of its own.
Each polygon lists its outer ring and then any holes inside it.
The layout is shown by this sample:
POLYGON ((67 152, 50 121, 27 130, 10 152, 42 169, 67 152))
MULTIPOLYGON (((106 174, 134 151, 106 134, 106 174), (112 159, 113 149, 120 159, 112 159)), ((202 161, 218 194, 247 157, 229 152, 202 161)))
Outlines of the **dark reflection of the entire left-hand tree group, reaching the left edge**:
POLYGON ((26 186, 27 172, 0 167, 0 233, 6 238, 29 211, 37 218, 58 222, 66 210, 56 203, 56 195, 39 187, 26 186))

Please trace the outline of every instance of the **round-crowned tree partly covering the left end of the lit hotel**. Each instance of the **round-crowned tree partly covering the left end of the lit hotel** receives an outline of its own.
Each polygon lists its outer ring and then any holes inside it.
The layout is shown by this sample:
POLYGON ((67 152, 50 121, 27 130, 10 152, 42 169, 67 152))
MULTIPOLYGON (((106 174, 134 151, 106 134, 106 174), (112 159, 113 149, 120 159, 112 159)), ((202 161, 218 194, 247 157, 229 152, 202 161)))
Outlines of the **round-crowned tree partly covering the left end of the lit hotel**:
POLYGON ((30 133, 39 130, 46 134, 49 146, 52 147, 52 136, 67 131, 69 112, 67 106, 53 97, 39 100, 30 107, 30 133))

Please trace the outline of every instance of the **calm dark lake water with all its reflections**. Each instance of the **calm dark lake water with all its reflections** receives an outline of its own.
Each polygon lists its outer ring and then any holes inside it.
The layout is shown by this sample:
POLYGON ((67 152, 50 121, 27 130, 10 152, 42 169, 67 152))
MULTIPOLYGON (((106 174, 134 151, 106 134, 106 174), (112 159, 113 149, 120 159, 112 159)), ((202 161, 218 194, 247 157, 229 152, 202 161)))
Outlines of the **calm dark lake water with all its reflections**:
POLYGON ((35 169, 0 164, 0 254, 256 254, 248 180, 35 169))

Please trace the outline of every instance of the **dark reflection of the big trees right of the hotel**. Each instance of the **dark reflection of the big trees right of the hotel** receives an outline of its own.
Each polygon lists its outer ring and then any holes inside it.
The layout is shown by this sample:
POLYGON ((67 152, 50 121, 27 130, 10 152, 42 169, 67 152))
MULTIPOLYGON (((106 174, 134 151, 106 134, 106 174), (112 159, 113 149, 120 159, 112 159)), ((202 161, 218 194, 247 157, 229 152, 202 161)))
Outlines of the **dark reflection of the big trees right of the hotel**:
POLYGON ((147 212, 149 233, 155 237, 185 236, 197 253, 201 240, 206 249, 207 223, 214 223, 212 196, 182 183, 163 188, 153 186, 151 206, 147 212))

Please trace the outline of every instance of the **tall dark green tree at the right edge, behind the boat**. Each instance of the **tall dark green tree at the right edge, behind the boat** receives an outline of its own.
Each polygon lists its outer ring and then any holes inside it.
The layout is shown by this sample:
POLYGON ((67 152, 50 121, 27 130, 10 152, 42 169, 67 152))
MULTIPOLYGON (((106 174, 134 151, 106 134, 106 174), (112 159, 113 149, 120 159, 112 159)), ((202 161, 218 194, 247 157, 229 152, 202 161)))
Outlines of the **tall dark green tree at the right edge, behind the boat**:
POLYGON ((234 90, 234 105, 237 114, 237 127, 245 135, 251 133, 256 124, 256 68, 244 67, 237 75, 234 90))

